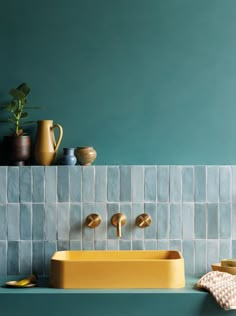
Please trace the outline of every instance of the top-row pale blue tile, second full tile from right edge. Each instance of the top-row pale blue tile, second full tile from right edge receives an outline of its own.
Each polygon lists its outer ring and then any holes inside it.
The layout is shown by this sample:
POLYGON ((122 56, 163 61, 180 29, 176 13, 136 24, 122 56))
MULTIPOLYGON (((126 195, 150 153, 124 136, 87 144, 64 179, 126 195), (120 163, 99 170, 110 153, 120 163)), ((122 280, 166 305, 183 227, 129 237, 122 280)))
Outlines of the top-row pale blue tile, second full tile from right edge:
POLYGON ((207 166, 207 201, 218 203, 219 201, 219 167, 207 166))

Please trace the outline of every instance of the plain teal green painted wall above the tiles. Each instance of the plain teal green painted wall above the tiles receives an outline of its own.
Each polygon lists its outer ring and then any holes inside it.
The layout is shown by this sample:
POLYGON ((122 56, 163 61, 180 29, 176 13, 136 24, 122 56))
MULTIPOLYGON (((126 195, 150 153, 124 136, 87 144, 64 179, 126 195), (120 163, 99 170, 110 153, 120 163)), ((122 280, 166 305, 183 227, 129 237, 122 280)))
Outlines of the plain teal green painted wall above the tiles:
POLYGON ((61 149, 94 146, 96 164, 235 164, 235 12, 235 0, 2 1, 0 103, 26 81, 32 118, 64 127, 61 149))

